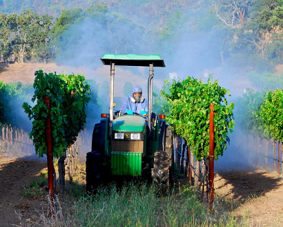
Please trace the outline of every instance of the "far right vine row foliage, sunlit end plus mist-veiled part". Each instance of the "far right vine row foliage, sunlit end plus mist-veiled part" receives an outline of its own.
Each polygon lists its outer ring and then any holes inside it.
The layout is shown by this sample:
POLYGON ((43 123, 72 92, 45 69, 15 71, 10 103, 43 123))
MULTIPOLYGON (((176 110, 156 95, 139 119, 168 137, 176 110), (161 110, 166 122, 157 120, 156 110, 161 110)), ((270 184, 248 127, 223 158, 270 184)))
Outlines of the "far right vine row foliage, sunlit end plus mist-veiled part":
POLYGON ((236 122, 244 131, 268 140, 283 140, 283 90, 266 93, 247 89, 236 103, 236 122))

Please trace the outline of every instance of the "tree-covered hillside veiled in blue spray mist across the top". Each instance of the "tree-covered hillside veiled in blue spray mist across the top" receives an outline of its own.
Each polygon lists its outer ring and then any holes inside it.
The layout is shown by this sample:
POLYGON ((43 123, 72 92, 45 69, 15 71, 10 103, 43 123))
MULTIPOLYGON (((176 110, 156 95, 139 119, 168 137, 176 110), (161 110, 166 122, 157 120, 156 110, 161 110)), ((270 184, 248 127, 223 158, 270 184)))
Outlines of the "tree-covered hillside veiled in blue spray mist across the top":
POLYGON ((1 54, 6 62, 97 67, 104 53, 158 53, 170 62, 167 74, 182 78, 217 67, 274 72, 283 59, 282 1, 213 2, 3 0, 1 54))

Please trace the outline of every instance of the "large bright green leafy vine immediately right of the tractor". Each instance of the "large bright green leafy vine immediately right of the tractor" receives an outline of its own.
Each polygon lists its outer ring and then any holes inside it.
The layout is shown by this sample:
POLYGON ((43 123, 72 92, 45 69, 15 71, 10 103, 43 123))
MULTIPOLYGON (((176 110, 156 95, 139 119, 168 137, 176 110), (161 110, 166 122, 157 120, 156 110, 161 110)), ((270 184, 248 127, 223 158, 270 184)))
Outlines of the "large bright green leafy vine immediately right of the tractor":
POLYGON ((226 142, 229 141, 228 131, 234 127, 233 102, 228 105, 225 95, 228 89, 213 83, 187 77, 184 80, 173 80, 170 94, 163 92, 168 100, 170 115, 168 120, 177 135, 182 136, 193 149, 197 160, 207 158, 209 154, 209 113, 210 105, 214 104, 215 125, 215 160, 223 155, 226 142))

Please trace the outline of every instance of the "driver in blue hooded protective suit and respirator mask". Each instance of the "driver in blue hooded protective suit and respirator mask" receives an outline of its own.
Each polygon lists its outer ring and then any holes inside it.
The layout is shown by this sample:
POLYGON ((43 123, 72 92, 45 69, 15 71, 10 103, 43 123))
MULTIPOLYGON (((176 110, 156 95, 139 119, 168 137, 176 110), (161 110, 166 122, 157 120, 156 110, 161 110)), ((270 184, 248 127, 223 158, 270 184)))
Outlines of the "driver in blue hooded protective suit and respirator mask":
POLYGON ((130 96, 126 97, 120 109, 122 114, 139 114, 144 118, 148 115, 148 102, 142 96, 142 87, 135 85, 130 92, 130 96))

